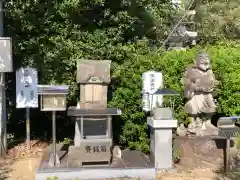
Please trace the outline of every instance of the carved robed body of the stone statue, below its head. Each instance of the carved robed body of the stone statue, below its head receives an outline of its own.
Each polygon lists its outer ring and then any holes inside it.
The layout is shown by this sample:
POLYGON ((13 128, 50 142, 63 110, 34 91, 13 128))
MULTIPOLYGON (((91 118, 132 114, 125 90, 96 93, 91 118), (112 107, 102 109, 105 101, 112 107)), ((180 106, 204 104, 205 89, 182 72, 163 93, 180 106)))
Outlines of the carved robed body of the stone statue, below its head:
POLYGON ((203 72, 195 65, 187 68, 184 74, 184 96, 188 99, 185 104, 187 113, 197 115, 216 111, 216 105, 211 94, 215 82, 211 69, 203 72))

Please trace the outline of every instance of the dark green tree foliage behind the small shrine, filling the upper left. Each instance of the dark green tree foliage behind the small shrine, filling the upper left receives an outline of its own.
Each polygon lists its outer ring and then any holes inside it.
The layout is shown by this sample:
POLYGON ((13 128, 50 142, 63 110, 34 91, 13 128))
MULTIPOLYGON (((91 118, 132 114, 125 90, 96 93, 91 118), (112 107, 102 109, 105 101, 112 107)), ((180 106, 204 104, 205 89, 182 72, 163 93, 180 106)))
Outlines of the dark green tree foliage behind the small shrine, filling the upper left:
MULTIPOLYGON (((76 105, 79 98, 75 80, 77 62, 84 58, 110 59, 114 71, 132 54, 149 52, 148 47, 141 48, 135 42, 157 39, 159 34, 164 34, 171 15, 167 7, 167 1, 153 0, 7 1, 5 35, 13 40, 16 69, 21 66, 37 68, 39 84, 70 85, 68 102, 76 105), (156 12, 156 3, 165 9, 156 12), (161 21, 155 20, 155 16, 161 21), (155 24, 165 28, 155 32, 155 24)), ((15 129, 24 131, 24 111, 15 109, 14 75, 9 75, 9 81, 10 127, 16 123, 15 129)), ((32 113, 32 119, 41 119, 32 123, 39 133, 42 133, 39 123, 44 129, 51 128, 45 120, 48 118, 42 114, 32 113)), ((66 126, 69 121, 64 119, 67 117, 62 119, 64 123, 60 125, 66 126)))

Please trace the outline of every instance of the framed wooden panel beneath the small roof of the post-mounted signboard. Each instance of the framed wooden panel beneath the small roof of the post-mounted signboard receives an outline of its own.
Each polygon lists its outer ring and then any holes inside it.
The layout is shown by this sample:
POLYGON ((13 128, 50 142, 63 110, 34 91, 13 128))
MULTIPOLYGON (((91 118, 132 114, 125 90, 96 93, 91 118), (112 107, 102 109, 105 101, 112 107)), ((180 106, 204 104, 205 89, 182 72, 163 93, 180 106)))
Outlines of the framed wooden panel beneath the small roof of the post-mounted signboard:
POLYGON ((43 94, 41 96, 42 111, 65 111, 66 95, 65 94, 43 94))

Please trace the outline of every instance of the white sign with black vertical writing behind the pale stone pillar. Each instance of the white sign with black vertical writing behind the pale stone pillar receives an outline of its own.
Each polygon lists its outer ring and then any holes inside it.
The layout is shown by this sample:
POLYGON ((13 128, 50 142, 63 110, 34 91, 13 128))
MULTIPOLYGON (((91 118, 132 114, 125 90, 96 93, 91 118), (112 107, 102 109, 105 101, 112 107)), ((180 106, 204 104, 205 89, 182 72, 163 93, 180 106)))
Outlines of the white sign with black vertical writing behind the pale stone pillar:
POLYGON ((163 76, 161 72, 147 71, 142 75, 143 80, 143 110, 150 111, 157 105, 162 105, 162 95, 154 95, 154 93, 163 87, 163 76))

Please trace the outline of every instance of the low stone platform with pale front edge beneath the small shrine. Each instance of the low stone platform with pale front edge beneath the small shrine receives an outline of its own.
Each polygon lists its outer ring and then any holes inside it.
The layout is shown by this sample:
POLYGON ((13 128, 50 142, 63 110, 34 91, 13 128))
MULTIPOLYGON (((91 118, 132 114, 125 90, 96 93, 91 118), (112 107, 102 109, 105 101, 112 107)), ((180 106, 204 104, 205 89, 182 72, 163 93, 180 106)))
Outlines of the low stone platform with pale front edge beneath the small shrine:
POLYGON ((155 179, 155 168, 149 158, 139 151, 122 151, 121 159, 113 159, 110 165, 83 165, 68 160, 67 150, 57 145, 57 151, 61 164, 57 167, 49 167, 48 160, 51 148, 49 148, 36 172, 36 180, 46 180, 49 176, 57 176, 59 180, 70 180, 73 178, 103 180, 107 178, 138 178, 144 180, 155 179))

